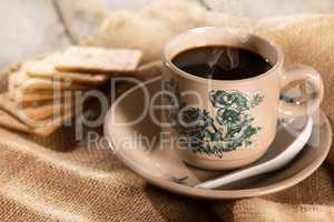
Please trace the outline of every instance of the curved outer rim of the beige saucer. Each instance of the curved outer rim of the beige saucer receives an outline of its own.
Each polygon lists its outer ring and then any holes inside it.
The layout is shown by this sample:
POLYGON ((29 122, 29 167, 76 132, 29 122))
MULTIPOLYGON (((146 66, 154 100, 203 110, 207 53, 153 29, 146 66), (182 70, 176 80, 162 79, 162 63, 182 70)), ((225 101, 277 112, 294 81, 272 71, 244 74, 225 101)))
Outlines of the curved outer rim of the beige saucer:
POLYGON ((321 152, 321 154, 314 159, 314 161, 304 168, 303 170, 298 171, 296 174, 282 180, 279 182, 265 185, 262 188, 254 188, 254 189, 239 189, 239 190, 205 190, 205 189, 196 189, 193 186, 187 186, 183 184, 178 184, 171 181, 168 181, 166 179, 160 179, 160 178, 155 178, 146 173, 145 171, 141 171, 131 161, 128 161, 126 157, 121 152, 118 152, 118 149, 115 149, 115 142, 112 139, 112 133, 111 133, 111 124, 109 120, 111 119, 111 110, 115 109, 114 107, 118 105, 126 97, 128 97, 130 93, 134 91, 138 90, 143 85, 150 84, 153 82, 158 82, 158 80, 161 80, 161 77, 154 78, 151 80, 145 81, 129 90, 127 90, 124 94, 121 94, 118 99, 115 100, 114 104, 109 108, 107 115, 105 118, 105 124, 104 124, 104 134, 108 141, 108 145, 110 149, 112 149, 114 154, 132 172, 138 174, 140 178, 146 180, 148 183, 154 184, 158 188, 161 188, 164 190, 167 190, 173 193, 177 193, 180 195, 187 195, 191 198, 200 198, 200 199, 210 199, 210 200, 224 200, 224 199, 240 199, 240 198, 252 198, 252 196, 262 196, 262 195, 267 195, 271 193, 276 193, 278 191, 288 189, 301 181, 305 180, 308 178, 313 172, 315 172, 321 164, 325 161, 330 149, 332 144, 332 129, 330 121, 325 113, 320 109, 320 114, 324 118, 324 127, 326 128, 326 135, 328 143, 325 147, 324 151, 321 152))

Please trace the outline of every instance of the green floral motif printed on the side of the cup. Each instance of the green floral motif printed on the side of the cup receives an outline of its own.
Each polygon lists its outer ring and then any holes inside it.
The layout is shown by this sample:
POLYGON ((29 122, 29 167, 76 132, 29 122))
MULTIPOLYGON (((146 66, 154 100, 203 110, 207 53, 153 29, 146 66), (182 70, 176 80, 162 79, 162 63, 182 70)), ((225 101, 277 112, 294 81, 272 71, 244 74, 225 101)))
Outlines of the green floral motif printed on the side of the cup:
MULTIPOLYGON (((167 83, 168 90, 174 91, 178 98, 177 84, 167 83)), ((252 138, 261 128, 254 125, 250 109, 258 105, 263 99, 261 93, 246 97, 239 91, 216 90, 209 93, 209 101, 215 110, 214 118, 207 110, 185 103, 180 103, 179 109, 170 112, 169 118, 177 120, 175 130, 186 139, 183 145, 188 150, 222 158, 224 152, 252 144, 252 138)))

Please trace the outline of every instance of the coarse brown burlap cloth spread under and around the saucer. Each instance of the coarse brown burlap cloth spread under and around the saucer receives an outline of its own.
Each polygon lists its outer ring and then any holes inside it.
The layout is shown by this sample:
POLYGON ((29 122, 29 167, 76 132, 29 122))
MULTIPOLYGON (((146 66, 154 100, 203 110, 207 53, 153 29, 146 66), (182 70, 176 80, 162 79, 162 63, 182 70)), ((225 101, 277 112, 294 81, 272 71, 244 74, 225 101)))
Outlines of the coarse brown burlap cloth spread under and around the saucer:
MULTIPOLYGON (((258 32, 281 44, 287 63, 306 63, 322 73, 326 84, 323 108, 333 119, 334 18, 297 19, 269 27, 258 32)), ((62 129, 36 142, 0 129, 1 222, 334 221, 334 178, 326 164, 276 194, 203 201, 149 185, 104 147, 69 140, 71 132, 62 129)))

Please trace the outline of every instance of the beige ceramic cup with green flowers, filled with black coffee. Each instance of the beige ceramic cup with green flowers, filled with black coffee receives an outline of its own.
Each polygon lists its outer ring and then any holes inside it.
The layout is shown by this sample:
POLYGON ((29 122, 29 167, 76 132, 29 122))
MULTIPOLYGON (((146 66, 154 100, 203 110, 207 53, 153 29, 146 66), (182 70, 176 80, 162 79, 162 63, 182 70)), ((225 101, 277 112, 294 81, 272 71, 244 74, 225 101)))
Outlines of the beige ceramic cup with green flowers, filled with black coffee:
POLYGON ((324 94, 317 71, 284 65, 277 44, 240 30, 184 32, 167 42, 163 62, 169 107, 163 111, 164 131, 177 138, 181 159, 200 169, 230 170, 258 160, 274 141, 277 122, 311 114, 324 94), (315 97, 282 100, 283 88, 294 81, 307 81, 315 97))

